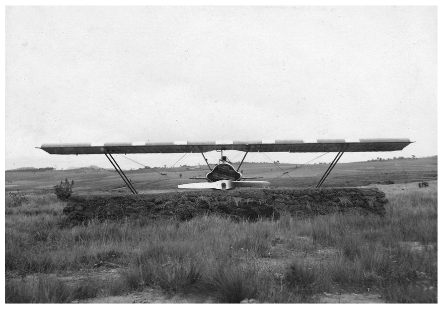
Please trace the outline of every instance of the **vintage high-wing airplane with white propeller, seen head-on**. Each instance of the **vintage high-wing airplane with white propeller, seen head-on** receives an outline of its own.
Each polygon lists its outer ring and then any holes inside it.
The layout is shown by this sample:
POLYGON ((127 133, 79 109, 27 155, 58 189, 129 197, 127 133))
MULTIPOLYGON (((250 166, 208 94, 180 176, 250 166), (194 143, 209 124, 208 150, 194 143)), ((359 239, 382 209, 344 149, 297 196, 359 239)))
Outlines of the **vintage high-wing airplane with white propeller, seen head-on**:
POLYGON ((104 143, 104 144, 43 144, 39 149, 49 154, 104 154, 119 173, 123 181, 133 194, 138 194, 131 181, 125 175, 112 154, 172 154, 172 153, 201 153, 211 170, 205 177, 191 179, 205 179, 207 182, 181 184, 178 188, 187 189, 216 189, 230 190, 240 187, 263 187, 269 181, 244 180, 263 177, 243 176, 239 172, 246 155, 251 152, 289 152, 289 153, 329 153, 338 154, 323 174, 316 188, 319 188, 332 171, 338 160, 345 152, 390 152, 403 150, 414 143, 409 139, 318 139, 318 140, 261 140, 261 141, 212 141, 188 142, 176 141, 168 143, 104 143), (223 151, 235 150, 244 152, 243 159, 235 168, 223 151), (206 159, 206 152, 221 151, 222 157, 214 168, 206 159))

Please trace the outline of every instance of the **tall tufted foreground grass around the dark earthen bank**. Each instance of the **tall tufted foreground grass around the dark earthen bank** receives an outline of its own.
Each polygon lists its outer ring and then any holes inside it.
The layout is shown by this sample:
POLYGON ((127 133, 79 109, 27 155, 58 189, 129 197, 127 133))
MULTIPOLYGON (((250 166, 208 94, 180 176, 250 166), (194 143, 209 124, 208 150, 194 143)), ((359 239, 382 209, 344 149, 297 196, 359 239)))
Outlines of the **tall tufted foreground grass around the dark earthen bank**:
MULTIPOLYGON (((6 173, 6 184, 26 187, 5 198, 5 301, 437 303, 437 181, 418 172, 436 178, 437 166, 433 171, 412 161, 398 169, 428 180, 429 187, 401 183, 400 176, 392 178, 395 184, 376 185, 389 200, 385 217, 286 215, 239 223, 203 215, 187 222, 91 220, 60 228, 66 202, 34 190, 60 183, 61 175, 6 173)), ((348 164, 355 166, 337 172, 376 167, 348 164)), ((389 176, 395 175, 391 168, 389 176)), ((118 181, 113 172, 68 176, 77 194, 102 192, 118 181), (100 178, 103 173, 109 178, 100 178), (82 190, 88 183, 94 186, 82 190)))

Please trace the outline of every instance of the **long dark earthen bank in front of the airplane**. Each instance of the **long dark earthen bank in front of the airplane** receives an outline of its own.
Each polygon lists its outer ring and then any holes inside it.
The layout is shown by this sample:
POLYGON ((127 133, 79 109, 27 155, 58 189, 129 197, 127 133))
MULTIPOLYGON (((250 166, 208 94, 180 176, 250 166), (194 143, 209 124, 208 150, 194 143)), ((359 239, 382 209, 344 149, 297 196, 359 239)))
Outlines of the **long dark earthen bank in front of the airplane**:
POLYGON ((205 213, 239 220, 278 219, 283 213, 298 218, 332 212, 384 215, 387 202, 376 188, 242 189, 186 191, 148 195, 78 195, 63 210, 63 225, 90 219, 175 218, 189 220, 205 213))

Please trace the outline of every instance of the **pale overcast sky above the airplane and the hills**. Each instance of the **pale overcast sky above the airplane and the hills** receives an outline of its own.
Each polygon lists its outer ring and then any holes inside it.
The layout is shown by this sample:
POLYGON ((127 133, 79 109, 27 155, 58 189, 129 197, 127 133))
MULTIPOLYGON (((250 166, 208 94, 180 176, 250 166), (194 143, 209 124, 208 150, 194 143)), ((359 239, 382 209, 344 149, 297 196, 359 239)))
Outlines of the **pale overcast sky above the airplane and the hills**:
POLYGON ((437 154, 437 6, 9 6, 5 44, 6 169, 111 167, 35 149, 71 142, 409 138, 341 161, 437 154))

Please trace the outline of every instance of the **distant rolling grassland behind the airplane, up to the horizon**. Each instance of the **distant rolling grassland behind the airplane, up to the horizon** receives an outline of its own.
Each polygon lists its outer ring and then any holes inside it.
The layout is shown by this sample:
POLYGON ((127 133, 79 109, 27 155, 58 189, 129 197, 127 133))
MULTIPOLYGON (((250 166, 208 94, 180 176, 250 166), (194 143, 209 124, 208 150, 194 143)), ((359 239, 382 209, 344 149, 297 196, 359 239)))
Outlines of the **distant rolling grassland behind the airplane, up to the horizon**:
MULTIPOLYGON (((320 180, 329 164, 304 165, 272 163, 243 163, 242 173, 246 176, 263 176, 271 181, 271 187, 312 187, 320 180), (295 169, 295 167, 298 167, 295 169), (284 175, 282 170, 289 171, 284 175)), ((234 164, 234 166, 237 166, 234 164)), ((155 190, 177 190, 177 185, 203 180, 190 177, 204 177, 209 169, 200 166, 197 170, 186 171, 175 167, 127 171, 134 187, 140 193, 155 190), (167 173, 162 176, 159 173, 167 173), (180 177, 180 174, 182 177, 180 177)), ((130 192, 117 172, 108 170, 72 170, 46 172, 6 172, 6 192, 42 192, 68 178, 74 180, 74 191, 81 193, 130 192)), ((377 183, 407 183, 437 180, 437 156, 419 159, 396 159, 337 164, 323 187, 366 186, 377 183)))

